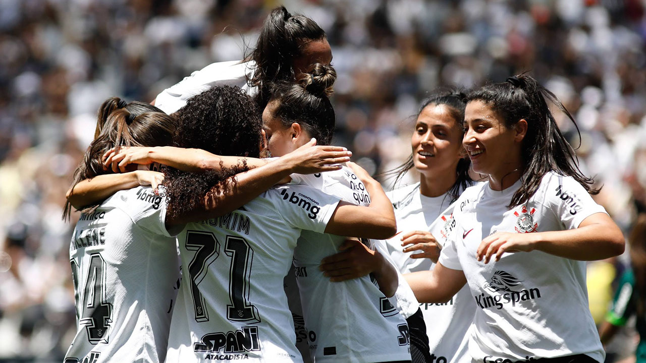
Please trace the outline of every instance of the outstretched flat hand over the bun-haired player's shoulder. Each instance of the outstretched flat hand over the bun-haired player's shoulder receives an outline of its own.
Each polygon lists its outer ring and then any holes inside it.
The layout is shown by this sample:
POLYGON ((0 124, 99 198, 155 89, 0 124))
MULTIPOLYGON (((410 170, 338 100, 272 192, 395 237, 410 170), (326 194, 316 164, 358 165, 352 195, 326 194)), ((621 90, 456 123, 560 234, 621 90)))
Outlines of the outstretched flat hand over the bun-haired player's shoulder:
POLYGON ((305 145, 280 157, 282 162, 291 165, 291 172, 296 174, 314 174, 341 169, 340 163, 350 160, 352 152, 345 147, 322 145, 317 140, 309 140, 305 145))

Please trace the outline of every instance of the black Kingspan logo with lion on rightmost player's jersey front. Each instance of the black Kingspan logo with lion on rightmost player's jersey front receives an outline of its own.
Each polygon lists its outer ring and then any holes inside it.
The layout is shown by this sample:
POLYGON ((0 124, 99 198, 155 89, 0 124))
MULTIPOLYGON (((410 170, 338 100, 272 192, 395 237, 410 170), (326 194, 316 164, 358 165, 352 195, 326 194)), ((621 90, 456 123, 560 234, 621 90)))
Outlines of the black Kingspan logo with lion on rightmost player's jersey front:
POLYGON ((523 289, 523 280, 506 271, 495 271, 490 282, 485 284, 485 292, 475 296, 475 304, 481 309, 495 307, 502 309, 503 306, 511 304, 516 306, 520 302, 534 300, 541 297, 541 290, 537 287, 523 289))

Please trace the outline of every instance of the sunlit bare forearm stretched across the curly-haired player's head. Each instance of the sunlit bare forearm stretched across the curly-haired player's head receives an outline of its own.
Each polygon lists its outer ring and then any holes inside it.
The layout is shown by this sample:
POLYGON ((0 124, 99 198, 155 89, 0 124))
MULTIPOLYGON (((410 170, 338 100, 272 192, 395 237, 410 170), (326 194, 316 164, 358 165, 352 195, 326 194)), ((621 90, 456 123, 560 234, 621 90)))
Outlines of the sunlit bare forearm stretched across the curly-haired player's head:
POLYGON ((266 164, 266 161, 256 158, 218 156, 202 149, 183 149, 171 146, 151 147, 148 153, 151 161, 186 172, 219 170, 223 167, 233 167, 243 163, 251 168, 266 164))

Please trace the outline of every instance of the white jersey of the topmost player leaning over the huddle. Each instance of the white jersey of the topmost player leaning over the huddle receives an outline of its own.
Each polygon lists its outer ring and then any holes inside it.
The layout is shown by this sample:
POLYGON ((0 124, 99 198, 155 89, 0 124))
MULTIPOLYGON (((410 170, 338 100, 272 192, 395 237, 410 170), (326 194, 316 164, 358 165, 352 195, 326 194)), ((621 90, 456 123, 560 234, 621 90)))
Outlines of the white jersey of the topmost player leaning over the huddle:
POLYGON ((166 88, 157 95, 155 106, 167 114, 172 114, 186 105, 189 98, 215 86, 238 86, 249 96, 254 96, 256 87, 247 85, 247 76, 253 76, 254 61, 227 61, 211 63, 196 70, 180 83, 166 88))

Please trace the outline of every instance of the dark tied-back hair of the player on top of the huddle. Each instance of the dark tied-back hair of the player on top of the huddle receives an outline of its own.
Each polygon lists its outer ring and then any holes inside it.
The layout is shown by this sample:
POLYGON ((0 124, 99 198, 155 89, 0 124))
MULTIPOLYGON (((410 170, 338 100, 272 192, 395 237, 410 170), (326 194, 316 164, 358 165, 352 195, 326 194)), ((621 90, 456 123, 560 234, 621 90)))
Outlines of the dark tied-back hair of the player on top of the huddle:
POLYGON ((293 59, 301 55, 304 42, 324 39, 326 34, 318 24, 302 15, 291 15, 285 6, 271 10, 258 36, 256 48, 245 57, 255 61, 249 86, 258 87, 256 103, 264 107, 269 101, 271 83, 293 81, 293 59))

